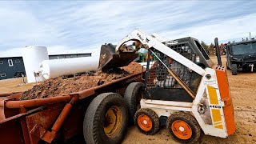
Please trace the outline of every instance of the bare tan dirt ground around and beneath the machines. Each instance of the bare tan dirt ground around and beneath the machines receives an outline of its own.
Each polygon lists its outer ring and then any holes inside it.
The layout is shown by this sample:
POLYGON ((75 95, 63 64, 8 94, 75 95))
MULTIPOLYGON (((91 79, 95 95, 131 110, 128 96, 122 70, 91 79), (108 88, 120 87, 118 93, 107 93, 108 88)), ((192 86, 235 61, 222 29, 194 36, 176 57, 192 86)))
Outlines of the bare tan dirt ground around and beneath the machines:
MULTIPOLYGON (((211 59, 217 62, 217 58, 211 57, 211 59)), ((222 56, 222 63, 226 64, 224 56, 222 56)), ((198 143, 256 143, 256 73, 240 72, 238 75, 232 75, 228 70, 228 79, 234 103, 236 132, 229 138, 204 135, 198 143)), ((19 78, 0 81, 0 93, 29 90, 34 86, 34 84, 18 86, 20 81, 19 78)), ((122 143, 155 144, 178 142, 171 138, 165 126, 154 135, 142 134, 137 127, 130 126, 122 143)))

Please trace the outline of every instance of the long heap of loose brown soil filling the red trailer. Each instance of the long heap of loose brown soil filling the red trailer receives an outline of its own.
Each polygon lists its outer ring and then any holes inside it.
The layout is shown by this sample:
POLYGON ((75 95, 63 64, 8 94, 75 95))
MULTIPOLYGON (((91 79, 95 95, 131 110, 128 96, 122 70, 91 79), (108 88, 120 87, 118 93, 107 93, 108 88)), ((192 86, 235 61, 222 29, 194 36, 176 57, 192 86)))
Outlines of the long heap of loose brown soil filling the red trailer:
POLYGON ((50 78, 38 85, 35 85, 32 89, 25 91, 20 100, 50 98, 63 94, 70 94, 139 72, 142 72, 142 66, 137 62, 131 62, 128 66, 115 70, 111 69, 107 71, 98 70, 96 72, 87 72, 81 76, 67 79, 63 79, 61 77, 50 78))

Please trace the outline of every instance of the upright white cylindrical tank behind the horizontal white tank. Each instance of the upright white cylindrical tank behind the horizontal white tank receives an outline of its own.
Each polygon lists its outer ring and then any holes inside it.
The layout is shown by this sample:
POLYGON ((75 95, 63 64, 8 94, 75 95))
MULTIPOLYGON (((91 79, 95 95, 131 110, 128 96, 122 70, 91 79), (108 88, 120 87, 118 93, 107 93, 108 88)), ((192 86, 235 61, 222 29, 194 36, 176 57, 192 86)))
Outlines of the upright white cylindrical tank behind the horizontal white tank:
POLYGON ((43 60, 48 60, 48 51, 46 46, 26 46, 22 50, 22 58, 26 70, 27 82, 41 82, 44 80, 42 75, 35 77, 34 73, 39 71, 38 65, 43 60))

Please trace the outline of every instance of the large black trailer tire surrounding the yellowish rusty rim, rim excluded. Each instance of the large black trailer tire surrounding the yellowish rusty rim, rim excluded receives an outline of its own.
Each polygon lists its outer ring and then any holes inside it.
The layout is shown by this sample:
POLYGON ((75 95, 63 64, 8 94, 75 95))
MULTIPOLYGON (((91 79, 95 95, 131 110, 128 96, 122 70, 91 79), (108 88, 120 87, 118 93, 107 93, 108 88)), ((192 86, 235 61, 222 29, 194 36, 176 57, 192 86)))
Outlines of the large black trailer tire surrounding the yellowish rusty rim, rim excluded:
POLYGON ((83 135, 86 143, 121 143, 127 127, 127 109, 124 98, 119 94, 104 93, 99 94, 94 98, 86 110, 86 115, 83 121, 83 135), (105 115, 111 106, 118 106, 122 111, 122 127, 114 138, 109 138, 104 131, 105 115))

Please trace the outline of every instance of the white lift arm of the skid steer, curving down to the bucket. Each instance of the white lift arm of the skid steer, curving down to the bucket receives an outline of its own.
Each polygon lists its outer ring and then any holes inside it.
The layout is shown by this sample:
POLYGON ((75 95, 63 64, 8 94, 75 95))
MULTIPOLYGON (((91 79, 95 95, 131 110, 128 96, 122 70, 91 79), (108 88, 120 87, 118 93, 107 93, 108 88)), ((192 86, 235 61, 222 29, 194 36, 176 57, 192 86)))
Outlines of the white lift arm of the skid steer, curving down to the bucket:
POLYGON ((154 49, 161 51, 163 54, 168 55, 170 58, 173 58, 175 61, 180 62, 182 65, 188 67, 190 70, 203 75, 205 70, 203 70, 200 66, 196 65, 194 62, 191 62, 189 59, 183 57, 181 54, 178 54, 176 51, 170 49, 170 47, 162 44, 156 38, 143 33, 140 30, 134 30, 130 34, 126 36, 126 38, 122 38, 122 40, 116 46, 116 52, 122 51, 122 45, 129 41, 135 41, 136 46, 141 48, 141 46, 149 49, 150 47, 154 47, 154 49))

